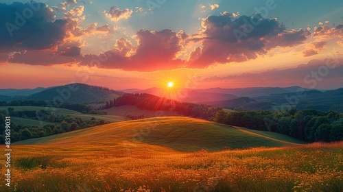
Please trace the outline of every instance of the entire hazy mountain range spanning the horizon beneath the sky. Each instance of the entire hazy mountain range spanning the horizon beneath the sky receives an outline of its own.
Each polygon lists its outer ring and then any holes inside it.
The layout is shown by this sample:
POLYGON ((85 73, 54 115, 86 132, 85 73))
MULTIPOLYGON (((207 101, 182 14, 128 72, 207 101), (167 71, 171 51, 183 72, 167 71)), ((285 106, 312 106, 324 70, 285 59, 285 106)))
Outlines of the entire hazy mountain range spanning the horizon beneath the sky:
POLYGON ((343 88, 332 91, 292 87, 254 87, 254 88, 207 88, 207 89, 163 89, 130 88, 114 91, 100 86, 73 84, 34 89, 0 89, 0 101, 14 99, 33 99, 64 101, 71 104, 96 104, 109 101, 126 93, 148 93, 158 97, 167 97, 178 101, 206 104, 233 110, 281 110, 285 106, 298 109, 314 108, 318 110, 343 111, 343 88), (301 90, 301 91, 300 91, 301 90), (299 92, 300 91, 300 92, 299 92))

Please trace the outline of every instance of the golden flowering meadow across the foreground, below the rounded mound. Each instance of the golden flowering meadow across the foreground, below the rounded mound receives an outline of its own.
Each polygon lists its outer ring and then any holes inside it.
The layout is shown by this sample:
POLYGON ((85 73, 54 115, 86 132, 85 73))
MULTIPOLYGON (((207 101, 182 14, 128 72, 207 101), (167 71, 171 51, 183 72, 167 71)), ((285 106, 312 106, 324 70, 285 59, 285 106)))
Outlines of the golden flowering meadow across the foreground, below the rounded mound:
POLYGON ((343 190, 343 142, 191 153, 144 143, 13 147, 12 187, 0 191, 343 190))

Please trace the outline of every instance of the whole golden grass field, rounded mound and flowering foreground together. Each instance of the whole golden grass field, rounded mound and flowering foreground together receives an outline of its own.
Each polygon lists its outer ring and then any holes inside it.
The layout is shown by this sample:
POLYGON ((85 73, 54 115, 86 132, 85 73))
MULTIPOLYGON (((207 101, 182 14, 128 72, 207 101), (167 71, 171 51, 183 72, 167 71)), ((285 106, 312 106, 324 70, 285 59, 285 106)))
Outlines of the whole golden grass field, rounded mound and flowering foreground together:
POLYGON ((298 143, 186 117, 111 123, 14 143, 11 190, 342 191, 343 143, 298 143))

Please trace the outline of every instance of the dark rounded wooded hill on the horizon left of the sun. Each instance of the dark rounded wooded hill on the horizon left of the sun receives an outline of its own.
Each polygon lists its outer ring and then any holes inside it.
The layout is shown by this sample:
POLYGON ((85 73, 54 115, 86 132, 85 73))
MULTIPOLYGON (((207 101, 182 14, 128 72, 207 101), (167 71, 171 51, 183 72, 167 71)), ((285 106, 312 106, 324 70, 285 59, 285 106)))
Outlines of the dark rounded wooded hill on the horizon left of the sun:
POLYGON ((68 84, 64 86, 48 88, 40 93, 29 95, 27 99, 53 101, 54 99, 59 98, 57 101, 60 101, 62 98, 64 102, 71 104, 90 104, 108 101, 109 99, 117 98, 123 94, 124 93, 121 91, 114 91, 100 86, 90 86, 87 84, 68 84), (75 88, 73 89, 70 87, 75 88))

